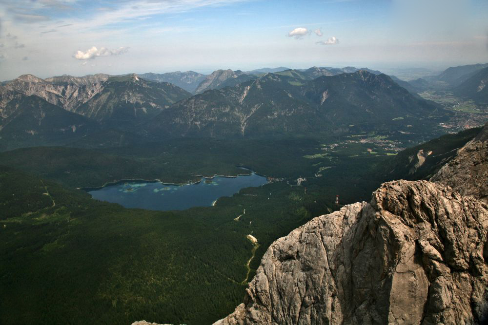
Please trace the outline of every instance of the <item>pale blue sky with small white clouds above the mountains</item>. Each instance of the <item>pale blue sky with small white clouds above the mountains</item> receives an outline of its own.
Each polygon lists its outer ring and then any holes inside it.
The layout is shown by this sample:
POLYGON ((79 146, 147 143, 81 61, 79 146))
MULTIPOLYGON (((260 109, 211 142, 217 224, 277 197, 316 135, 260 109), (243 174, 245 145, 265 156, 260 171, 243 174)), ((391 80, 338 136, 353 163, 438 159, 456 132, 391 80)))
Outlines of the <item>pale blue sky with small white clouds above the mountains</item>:
POLYGON ((0 0, 0 80, 488 62, 488 0, 0 0))

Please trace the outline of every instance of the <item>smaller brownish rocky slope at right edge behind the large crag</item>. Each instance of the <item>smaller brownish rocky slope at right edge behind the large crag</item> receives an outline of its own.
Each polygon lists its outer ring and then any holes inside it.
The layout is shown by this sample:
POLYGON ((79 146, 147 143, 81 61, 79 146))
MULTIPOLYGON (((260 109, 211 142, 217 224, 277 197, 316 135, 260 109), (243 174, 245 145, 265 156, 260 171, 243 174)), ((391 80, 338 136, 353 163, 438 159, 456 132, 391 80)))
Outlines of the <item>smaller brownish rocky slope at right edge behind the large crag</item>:
POLYGON ((430 181, 488 203, 488 123, 430 181))

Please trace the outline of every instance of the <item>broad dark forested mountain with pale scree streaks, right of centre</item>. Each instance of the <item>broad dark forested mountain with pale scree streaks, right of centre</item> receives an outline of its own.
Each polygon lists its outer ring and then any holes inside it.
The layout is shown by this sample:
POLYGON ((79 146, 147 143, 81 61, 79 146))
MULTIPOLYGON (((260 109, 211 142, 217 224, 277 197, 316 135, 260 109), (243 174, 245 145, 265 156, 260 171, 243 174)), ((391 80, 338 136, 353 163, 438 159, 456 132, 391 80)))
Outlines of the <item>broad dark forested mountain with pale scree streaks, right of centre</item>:
POLYGON ((349 124, 391 128, 396 119, 420 121, 438 109, 386 75, 358 71, 306 81, 268 73, 182 100, 142 128, 174 137, 309 134, 349 124))

